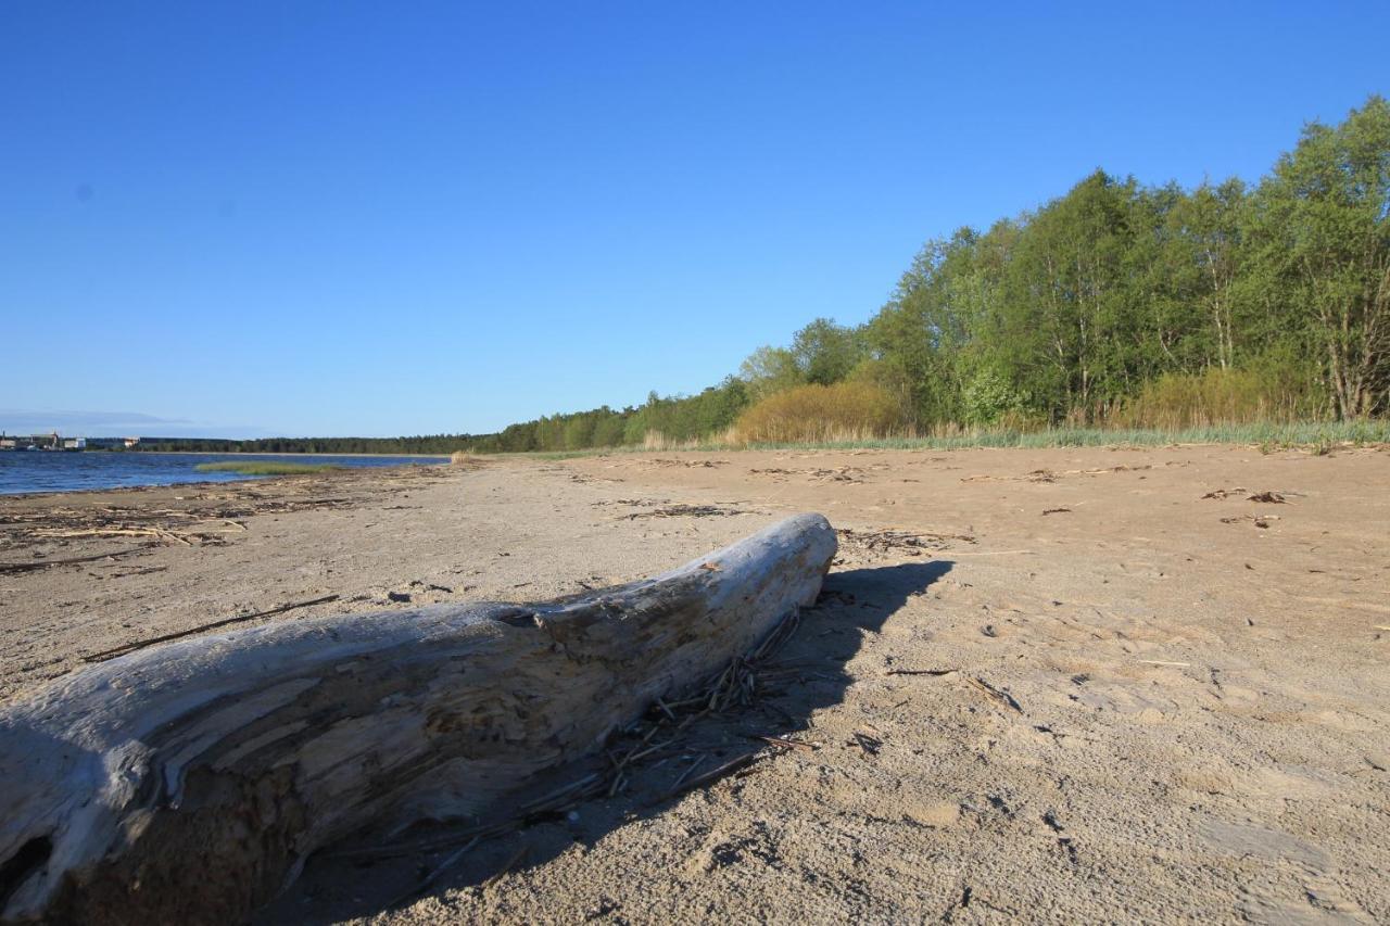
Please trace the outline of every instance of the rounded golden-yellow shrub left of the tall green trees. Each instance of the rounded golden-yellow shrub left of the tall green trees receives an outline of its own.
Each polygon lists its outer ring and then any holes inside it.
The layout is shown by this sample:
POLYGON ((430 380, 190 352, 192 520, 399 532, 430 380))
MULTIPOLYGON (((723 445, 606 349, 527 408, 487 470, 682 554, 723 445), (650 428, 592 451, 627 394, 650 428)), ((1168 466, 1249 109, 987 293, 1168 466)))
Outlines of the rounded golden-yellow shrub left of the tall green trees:
POLYGON ((745 444, 862 441, 903 430, 899 403, 872 382, 802 385, 771 395, 738 419, 745 444))

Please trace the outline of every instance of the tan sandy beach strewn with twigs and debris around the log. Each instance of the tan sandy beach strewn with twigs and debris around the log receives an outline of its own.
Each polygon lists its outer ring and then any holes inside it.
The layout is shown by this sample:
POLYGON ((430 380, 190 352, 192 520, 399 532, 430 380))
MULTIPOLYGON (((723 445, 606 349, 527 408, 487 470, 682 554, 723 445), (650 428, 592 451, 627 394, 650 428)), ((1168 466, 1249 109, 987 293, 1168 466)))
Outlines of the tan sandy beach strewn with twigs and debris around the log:
POLYGON ((316 858, 263 919, 1390 920, 1383 448, 613 455, 0 499, 3 563, 129 551, 0 567, 0 697, 328 595, 270 620, 582 591, 799 510, 841 553, 752 706, 442 869, 456 847, 316 858))

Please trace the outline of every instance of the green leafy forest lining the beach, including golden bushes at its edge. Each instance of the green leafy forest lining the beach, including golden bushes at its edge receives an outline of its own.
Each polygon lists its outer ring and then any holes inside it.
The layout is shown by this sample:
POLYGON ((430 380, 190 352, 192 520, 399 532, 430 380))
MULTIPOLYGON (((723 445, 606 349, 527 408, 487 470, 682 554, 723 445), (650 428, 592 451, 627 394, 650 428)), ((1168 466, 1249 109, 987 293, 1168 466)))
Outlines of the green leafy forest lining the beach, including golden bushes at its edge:
POLYGON ((566 450, 1387 413, 1390 104, 1372 96, 1339 125, 1305 125, 1252 186, 1095 171, 1036 211, 929 241, 869 321, 817 318, 699 395, 391 445, 566 450))

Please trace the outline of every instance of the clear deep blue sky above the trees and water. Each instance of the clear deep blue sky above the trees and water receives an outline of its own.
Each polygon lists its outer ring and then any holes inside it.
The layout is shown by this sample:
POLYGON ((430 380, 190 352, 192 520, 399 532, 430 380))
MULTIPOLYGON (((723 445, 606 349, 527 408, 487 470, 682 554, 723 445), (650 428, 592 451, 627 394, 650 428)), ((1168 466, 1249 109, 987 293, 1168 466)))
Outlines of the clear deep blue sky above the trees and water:
POLYGON ((4 3, 0 427, 692 392, 930 236, 1095 167, 1255 179, 1390 93, 1383 1, 935 6, 4 3))

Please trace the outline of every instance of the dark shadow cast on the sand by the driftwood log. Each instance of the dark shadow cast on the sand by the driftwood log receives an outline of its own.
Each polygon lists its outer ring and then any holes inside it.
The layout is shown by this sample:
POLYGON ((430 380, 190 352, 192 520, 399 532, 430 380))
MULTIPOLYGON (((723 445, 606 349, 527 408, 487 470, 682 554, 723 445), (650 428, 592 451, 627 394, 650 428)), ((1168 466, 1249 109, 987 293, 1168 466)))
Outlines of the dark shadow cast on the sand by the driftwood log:
MULTIPOLYGON (((256 922, 329 923, 449 891, 484 890, 491 880, 543 865, 575 844, 594 847, 613 830, 660 815, 691 793, 731 787, 730 779, 756 773, 760 763, 777 762, 785 749, 796 748, 769 738, 803 738, 816 710, 842 701, 853 681, 847 663, 863 635, 877 633, 952 564, 934 560, 830 573, 816 605, 802 609, 795 635, 751 673, 755 684, 748 705, 701 716, 678 733, 656 733, 652 742, 659 748, 620 779, 609 773, 609 759, 598 756, 537 786, 555 791, 591 779, 605 786, 619 781, 612 794, 603 788, 495 836, 480 837, 477 826, 435 826, 391 847, 353 841, 331 847, 310 858, 299 880, 261 909, 256 922), (411 841, 423 848, 411 851, 411 841)), ((653 706, 652 715, 660 710, 653 706)), ((634 734, 628 744, 635 742, 634 734)))

